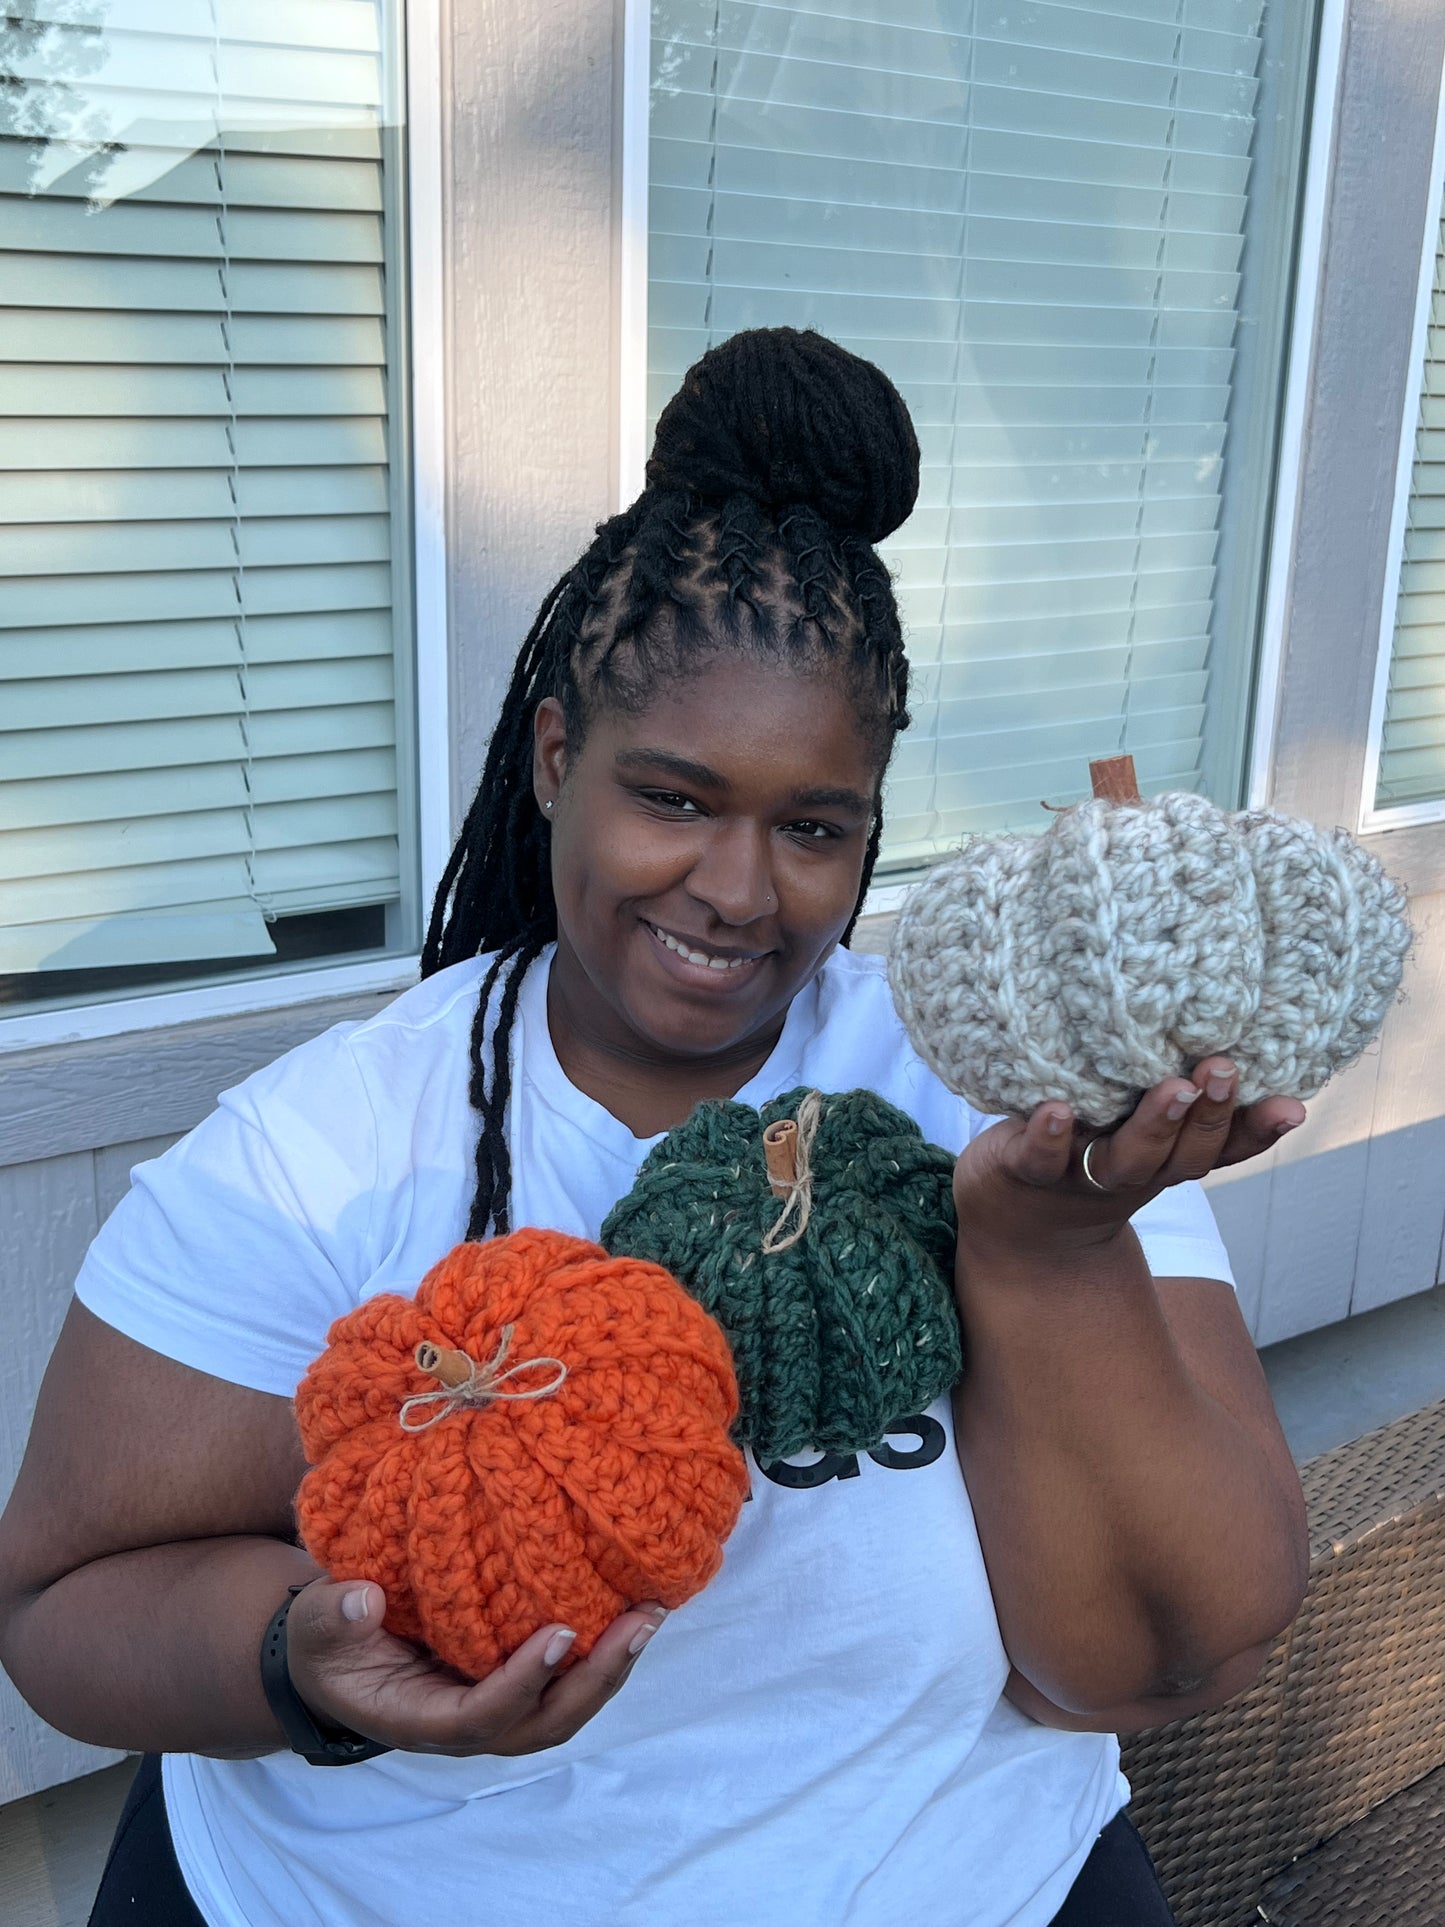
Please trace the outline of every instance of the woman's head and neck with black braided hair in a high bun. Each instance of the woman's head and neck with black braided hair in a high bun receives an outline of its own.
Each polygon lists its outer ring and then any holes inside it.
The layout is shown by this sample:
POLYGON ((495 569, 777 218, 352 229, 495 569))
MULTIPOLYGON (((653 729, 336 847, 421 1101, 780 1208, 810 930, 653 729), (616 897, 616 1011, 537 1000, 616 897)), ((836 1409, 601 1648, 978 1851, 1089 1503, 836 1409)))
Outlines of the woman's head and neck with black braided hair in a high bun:
POLYGON ((609 1110, 657 1131, 767 1058, 852 929, 907 726, 873 543, 917 489, 886 376, 825 335, 751 330, 690 370, 647 488, 541 605, 422 954, 426 977, 493 952, 472 1037, 470 1237, 511 1224, 507 1041, 547 942, 565 1069, 590 1066, 609 1110), (713 1002, 734 962, 748 967, 713 1002))

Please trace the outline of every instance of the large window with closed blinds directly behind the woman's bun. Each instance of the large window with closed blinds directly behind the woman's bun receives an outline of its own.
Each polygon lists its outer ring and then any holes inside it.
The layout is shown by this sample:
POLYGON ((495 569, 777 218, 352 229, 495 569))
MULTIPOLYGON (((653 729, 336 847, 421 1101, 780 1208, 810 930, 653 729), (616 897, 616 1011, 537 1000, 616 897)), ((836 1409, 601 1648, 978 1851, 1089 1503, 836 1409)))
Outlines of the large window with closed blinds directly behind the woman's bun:
POLYGON ((923 445, 882 869, 1092 755, 1241 794, 1310 0, 657 0, 647 412, 815 326, 923 445))

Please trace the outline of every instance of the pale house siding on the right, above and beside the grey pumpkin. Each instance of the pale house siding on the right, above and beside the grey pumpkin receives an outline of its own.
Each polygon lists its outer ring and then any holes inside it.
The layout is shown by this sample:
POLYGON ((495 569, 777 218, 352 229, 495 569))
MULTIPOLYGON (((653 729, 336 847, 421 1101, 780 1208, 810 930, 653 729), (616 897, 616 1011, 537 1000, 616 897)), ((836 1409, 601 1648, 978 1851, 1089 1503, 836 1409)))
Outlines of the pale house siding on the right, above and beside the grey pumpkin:
MULTIPOLYGON (((1270 804, 1316 823, 1360 807, 1443 58, 1445 10, 1349 6, 1270 771, 1270 804)), ((1306 1131, 1210 1185, 1260 1345, 1441 1276, 1445 825, 1370 846, 1412 892, 1405 1000, 1306 1131)))

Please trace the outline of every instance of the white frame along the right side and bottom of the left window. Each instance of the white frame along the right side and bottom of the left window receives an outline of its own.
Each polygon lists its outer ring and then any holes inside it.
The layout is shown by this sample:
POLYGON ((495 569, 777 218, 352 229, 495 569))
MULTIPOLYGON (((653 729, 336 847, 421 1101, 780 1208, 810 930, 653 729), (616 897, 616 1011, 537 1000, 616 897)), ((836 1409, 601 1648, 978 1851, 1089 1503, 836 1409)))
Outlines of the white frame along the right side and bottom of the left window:
MULTIPOLYGON (((445 520, 445 310, 443 310, 443 148, 441 0, 407 0, 407 256, 410 301, 410 461, 416 842, 420 902, 426 908, 451 850, 451 728, 447 678, 447 520, 445 520)), ((645 241, 645 218, 644 218, 645 241)), ((645 301, 644 262, 644 301, 645 301)), ((37 1044, 121 1037, 162 1025, 231 1017, 245 1012, 314 1004, 416 983, 418 954, 368 964, 320 964, 154 990, 110 1002, 75 1004, 0 1017, 0 1054, 37 1044)))

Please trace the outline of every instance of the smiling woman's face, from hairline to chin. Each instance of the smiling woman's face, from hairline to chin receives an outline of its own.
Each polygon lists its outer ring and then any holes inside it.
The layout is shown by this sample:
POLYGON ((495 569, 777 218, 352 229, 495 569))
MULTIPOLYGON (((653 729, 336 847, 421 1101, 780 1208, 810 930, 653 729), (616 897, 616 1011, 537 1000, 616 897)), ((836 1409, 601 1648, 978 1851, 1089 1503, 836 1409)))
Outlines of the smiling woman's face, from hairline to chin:
POLYGON ((642 711, 601 705, 570 757, 541 703, 572 1031, 644 1064, 771 1046, 854 913, 879 780, 850 694, 803 667, 713 657, 642 711))

